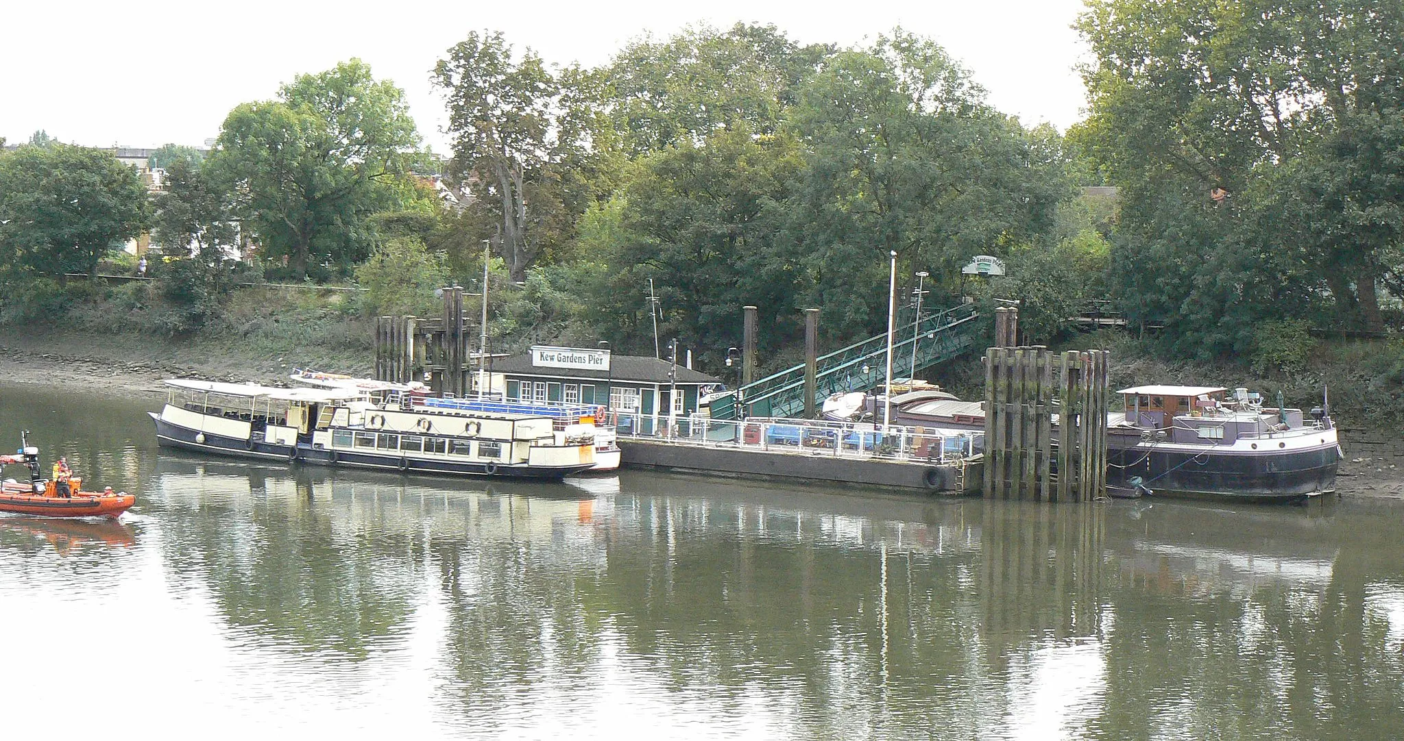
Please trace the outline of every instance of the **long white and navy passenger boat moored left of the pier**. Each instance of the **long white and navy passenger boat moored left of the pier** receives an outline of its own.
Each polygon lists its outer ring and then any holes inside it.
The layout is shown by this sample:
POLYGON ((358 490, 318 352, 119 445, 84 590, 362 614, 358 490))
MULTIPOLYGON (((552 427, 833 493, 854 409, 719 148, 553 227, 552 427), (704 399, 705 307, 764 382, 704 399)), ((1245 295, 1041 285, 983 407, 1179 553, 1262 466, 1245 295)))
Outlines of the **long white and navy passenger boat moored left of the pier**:
POLYGON ((555 429, 550 417, 395 408, 364 389, 274 389, 173 379, 157 442, 215 455, 518 479, 563 479, 594 467, 594 428, 555 429))

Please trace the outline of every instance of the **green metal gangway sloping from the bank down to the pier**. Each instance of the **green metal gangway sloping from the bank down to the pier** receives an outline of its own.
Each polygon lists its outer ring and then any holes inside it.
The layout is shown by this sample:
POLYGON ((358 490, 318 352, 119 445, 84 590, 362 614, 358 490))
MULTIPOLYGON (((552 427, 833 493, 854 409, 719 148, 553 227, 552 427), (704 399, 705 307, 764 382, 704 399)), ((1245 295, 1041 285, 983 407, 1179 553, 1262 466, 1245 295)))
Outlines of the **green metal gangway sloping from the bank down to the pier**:
MULTIPOLYGON (((922 368, 949 361, 972 349, 976 344, 977 317, 979 312, 974 306, 960 305, 922 316, 920 327, 910 320, 899 324, 893 331, 893 378, 910 378, 922 368), (913 342, 917 342, 915 365, 911 362, 913 342)), ((880 386, 886 380, 886 333, 823 355, 817 362, 816 403, 821 403, 835 393, 866 392, 880 386)), ((734 397, 729 396, 712 401, 712 418, 736 420, 737 397, 744 407, 746 417, 800 417, 804 414, 804 366, 788 368, 741 386, 734 397)))

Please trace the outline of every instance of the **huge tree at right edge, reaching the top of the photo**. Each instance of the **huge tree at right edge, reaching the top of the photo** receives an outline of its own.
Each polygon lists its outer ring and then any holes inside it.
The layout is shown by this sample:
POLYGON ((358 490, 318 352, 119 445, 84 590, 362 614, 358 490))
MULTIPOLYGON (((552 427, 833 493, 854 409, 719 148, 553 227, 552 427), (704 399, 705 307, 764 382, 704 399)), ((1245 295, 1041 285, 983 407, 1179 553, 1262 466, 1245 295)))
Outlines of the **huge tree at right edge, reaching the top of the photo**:
MULTIPOLYGON (((1404 7, 1367 0, 1097 0, 1078 27, 1095 58, 1084 70, 1092 115, 1078 136, 1123 185, 1123 246, 1147 250, 1127 253, 1130 269, 1157 269, 1157 255, 1199 233, 1214 241, 1182 247, 1219 253, 1202 264, 1234 251, 1244 275, 1271 288, 1302 276, 1282 260, 1290 251, 1313 282, 1330 288, 1337 316, 1358 313, 1379 328, 1380 251, 1398 237, 1396 209, 1376 206, 1398 196, 1372 181, 1369 157, 1359 153, 1386 161, 1398 152, 1389 125, 1404 90, 1404 7), (1185 194, 1174 201, 1181 209, 1171 220, 1189 226, 1186 232, 1157 232, 1168 216, 1165 203, 1144 199, 1167 188, 1185 194), (1219 205, 1206 209, 1212 194, 1219 205), (1191 226, 1196 220, 1205 226, 1191 226), (1250 226, 1265 223, 1272 225, 1266 232, 1250 226)), ((1150 295, 1163 291, 1165 302, 1184 288, 1157 291, 1150 276, 1140 282, 1150 295)), ((1200 282, 1223 285, 1207 275, 1200 282)), ((1276 293, 1241 298, 1259 302, 1276 293)), ((1250 310, 1287 316, 1300 305, 1250 310)), ((1245 342, 1233 333, 1220 340, 1200 344, 1202 352, 1245 342)))

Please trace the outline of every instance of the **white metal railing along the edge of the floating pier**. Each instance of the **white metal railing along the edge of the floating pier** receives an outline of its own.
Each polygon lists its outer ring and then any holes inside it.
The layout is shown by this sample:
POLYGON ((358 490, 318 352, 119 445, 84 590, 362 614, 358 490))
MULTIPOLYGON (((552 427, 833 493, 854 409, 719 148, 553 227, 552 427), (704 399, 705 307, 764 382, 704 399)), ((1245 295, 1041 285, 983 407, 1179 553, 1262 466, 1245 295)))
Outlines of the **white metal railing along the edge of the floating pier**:
POLYGON ((952 463, 984 449, 984 434, 925 427, 834 422, 826 420, 667 417, 611 413, 621 441, 739 448, 795 455, 952 463))

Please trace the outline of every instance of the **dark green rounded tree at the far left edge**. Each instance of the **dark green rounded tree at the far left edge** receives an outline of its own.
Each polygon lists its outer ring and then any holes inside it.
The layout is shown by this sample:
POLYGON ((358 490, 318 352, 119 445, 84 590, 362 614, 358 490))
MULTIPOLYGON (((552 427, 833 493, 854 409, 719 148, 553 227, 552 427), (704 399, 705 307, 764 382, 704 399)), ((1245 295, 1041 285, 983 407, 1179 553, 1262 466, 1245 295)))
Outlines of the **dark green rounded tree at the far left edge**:
POLYGON ((51 142, 0 157, 0 264, 59 275, 93 272, 142 233, 142 178, 110 152, 51 142))

